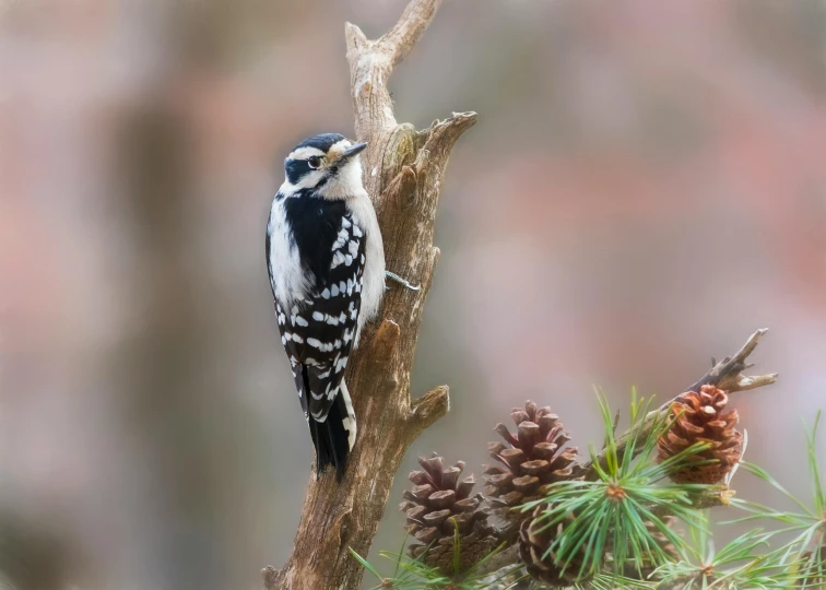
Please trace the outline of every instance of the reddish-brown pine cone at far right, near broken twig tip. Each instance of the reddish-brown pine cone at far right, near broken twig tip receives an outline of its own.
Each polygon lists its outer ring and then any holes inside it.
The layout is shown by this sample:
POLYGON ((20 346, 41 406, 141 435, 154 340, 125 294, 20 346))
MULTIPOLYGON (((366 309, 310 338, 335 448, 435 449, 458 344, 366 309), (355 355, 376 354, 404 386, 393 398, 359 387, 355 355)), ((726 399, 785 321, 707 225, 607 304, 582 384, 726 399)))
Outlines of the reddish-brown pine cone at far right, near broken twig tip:
POLYGON ((671 479, 674 482, 716 484, 740 461, 743 435, 735 429, 740 416, 736 410, 723 412, 728 401, 725 391, 706 385, 700 388, 699 393, 688 391, 671 404, 671 417, 678 417, 671 429, 660 438, 658 459, 664 461, 696 442, 708 442, 709 448, 687 460, 689 463, 717 460, 705 465, 689 464, 672 473, 671 479))

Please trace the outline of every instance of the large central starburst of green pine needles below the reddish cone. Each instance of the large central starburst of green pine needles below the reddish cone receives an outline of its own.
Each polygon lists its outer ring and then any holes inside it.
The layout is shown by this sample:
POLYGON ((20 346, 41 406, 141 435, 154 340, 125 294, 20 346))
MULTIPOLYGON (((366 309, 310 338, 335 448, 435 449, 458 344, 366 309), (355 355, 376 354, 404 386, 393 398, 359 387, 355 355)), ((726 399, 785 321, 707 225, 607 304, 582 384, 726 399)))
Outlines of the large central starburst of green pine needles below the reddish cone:
POLYGON ((573 573, 576 579, 587 579, 602 571, 609 551, 614 563, 629 564, 637 571, 641 571, 645 564, 668 560, 670 556, 653 535, 661 533, 677 548, 685 543, 661 515, 673 515, 699 527, 701 522, 697 520, 692 497, 717 487, 669 480, 670 474, 684 468, 706 447, 692 446, 658 463, 654 460, 657 442, 673 420, 658 414, 647 424, 652 400, 638 398, 636 390, 632 393, 629 436, 621 451, 613 413, 605 396, 602 392, 598 396, 606 442, 604 468, 597 460, 597 451, 590 450, 597 481, 559 482, 547 497, 523 507, 524 511, 544 506, 544 512, 534 521, 536 532, 563 523, 543 558, 553 554, 562 571, 573 573), (652 524, 653 531, 646 527, 647 522, 652 524), (580 562, 579 568, 570 571, 576 567, 575 559, 580 562))

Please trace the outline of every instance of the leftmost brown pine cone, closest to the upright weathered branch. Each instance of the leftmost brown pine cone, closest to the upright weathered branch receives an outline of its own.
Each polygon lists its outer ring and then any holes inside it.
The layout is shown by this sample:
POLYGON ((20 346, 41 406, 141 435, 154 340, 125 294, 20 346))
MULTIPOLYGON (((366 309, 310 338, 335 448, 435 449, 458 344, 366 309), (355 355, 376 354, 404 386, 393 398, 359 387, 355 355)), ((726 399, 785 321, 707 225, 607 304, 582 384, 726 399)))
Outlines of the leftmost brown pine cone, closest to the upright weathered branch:
POLYGON ((458 528, 458 571, 465 571, 496 546, 494 529, 487 523, 489 508, 482 494, 471 497, 476 483, 473 475, 459 481, 463 461, 445 469, 444 459, 434 453, 429 459, 420 457, 418 463, 424 471, 410 474, 413 491, 404 491, 404 502, 399 506, 408 515, 404 529, 416 539, 408 552, 452 576, 453 535, 458 528))

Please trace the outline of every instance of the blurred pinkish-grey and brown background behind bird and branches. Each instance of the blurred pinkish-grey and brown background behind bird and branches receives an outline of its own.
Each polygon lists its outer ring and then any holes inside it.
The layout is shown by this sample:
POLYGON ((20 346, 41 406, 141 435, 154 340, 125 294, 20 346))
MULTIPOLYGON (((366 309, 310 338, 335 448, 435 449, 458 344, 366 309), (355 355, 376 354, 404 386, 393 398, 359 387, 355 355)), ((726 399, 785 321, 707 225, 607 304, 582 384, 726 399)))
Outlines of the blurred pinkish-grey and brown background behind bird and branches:
MULTIPOLYGON (((352 134, 343 25, 404 0, 0 0, 0 570, 234 590, 287 557, 312 460, 263 259, 282 160, 352 134)), ((747 459, 806 496, 826 392, 826 3, 451 0, 397 117, 480 119, 442 192, 413 446, 480 475, 532 398, 676 394, 757 328, 747 459)), ((393 269, 404 274, 404 269, 393 269)), ((357 394, 357 392, 356 392, 357 394)), ((742 497, 774 502, 735 479, 742 497)))

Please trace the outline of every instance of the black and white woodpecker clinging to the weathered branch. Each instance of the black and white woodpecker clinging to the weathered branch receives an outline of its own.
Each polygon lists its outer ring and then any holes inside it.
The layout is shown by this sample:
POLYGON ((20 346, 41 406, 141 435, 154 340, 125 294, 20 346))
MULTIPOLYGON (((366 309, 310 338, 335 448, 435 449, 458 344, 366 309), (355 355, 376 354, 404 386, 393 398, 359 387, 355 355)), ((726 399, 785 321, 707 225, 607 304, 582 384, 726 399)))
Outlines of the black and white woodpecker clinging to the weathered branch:
POLYGON ((343 476, 356 438, 344 370, 385 291, 385 251, 358 153, 338 133, 309 138, 284 161, 267 224, 267 268, 316 468, 343 476))

